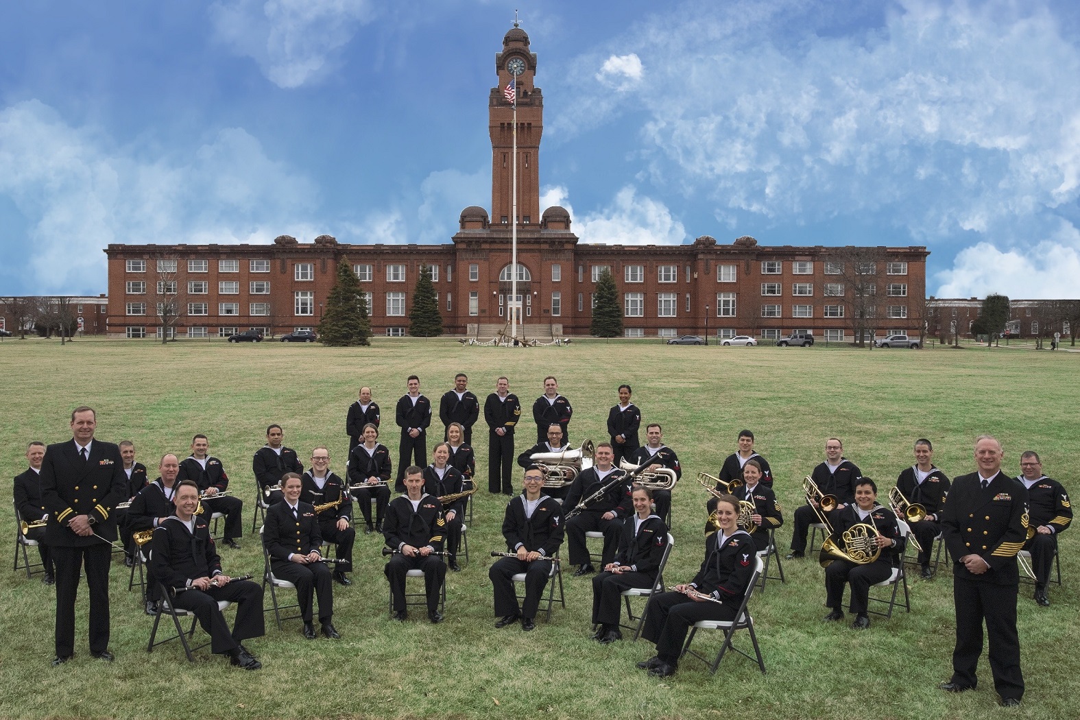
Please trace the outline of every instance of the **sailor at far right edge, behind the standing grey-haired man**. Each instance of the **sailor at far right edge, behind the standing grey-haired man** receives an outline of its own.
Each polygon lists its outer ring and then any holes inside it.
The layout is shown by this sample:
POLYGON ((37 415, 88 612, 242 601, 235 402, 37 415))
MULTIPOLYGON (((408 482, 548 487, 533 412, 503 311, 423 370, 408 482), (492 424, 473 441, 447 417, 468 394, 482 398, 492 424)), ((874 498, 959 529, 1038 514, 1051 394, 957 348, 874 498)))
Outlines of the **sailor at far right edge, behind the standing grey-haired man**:
POLYGON ((1038 452, 1028 450, 1022 454, 1020 468, 1023 473, 1016 479, 1027 488, 1027 502, 1031 508, 1028 527, 1035 528, 1035 534, 1024 544, 1024 549, 1031 554, 1035 601, 1047 608, 1050 607, 1047 583, 1050 582, 1050 569, 1057 552, 1057 535, 1072 522, 1072 505, 1062 484, 1042 474, 1038 452))

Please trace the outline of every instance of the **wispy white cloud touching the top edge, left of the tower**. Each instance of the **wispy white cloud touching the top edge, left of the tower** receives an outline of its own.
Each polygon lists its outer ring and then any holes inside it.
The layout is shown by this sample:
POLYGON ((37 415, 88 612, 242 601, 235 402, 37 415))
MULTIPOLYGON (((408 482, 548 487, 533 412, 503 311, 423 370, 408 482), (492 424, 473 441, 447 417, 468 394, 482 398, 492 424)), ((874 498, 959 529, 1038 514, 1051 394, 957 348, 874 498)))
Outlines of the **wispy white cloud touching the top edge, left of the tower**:
POLYGON ((377 12, 372 0, 218 0, 210 8, 218 39, 280 87, 321 78, 377 12))

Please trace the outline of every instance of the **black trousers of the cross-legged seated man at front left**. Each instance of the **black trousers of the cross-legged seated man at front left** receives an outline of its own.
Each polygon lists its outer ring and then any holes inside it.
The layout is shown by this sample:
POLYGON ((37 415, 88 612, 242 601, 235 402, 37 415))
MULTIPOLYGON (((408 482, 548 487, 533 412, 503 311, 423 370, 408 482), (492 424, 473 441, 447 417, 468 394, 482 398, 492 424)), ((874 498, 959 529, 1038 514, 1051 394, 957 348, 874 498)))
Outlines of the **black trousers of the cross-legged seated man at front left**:
POLYGON ((262 637, 266 634, 262 620, 262 586, 249 580, 235 580, 225 587, 177 593, 171 602, 175 608, 190 610, 195 614, 199 624, 210 635, 211 650, 216 653, 235 650, 244 640, 262 637), (231 631, 225 615, 217 608, 218 600, 228 600, 237 606, 237 620, 232 624, 231 631))

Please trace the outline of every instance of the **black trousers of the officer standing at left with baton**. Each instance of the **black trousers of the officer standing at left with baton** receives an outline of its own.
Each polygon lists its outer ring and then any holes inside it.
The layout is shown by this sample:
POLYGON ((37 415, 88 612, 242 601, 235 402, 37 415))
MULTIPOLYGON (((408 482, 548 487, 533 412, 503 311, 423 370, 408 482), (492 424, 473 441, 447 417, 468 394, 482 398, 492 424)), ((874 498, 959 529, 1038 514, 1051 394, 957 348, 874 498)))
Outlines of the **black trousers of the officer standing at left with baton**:
POLYGON ((56 563, 56 655, 66 657, 75 652, 75 601, 83 562, 90 586, 90 651, 108 650, 112 547, 103 541, 78 547, 53 545, 52 555, 56 563))

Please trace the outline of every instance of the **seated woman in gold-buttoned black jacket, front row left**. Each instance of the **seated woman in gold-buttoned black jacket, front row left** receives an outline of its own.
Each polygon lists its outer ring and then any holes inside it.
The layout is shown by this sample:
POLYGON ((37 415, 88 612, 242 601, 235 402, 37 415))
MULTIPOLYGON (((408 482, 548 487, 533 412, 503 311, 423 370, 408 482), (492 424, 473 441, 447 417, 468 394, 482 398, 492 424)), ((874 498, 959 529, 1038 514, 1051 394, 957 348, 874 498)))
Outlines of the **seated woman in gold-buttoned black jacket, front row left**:
POLYGON ((300 500, 303 484, 296 473, 285 473, 281 479, 282 502, 267 511, 262 544, 270 554, 270 570, 274 578, 296 585, 296 600, 303 619, 303 637, 315 639, 311 596, 319 594, 319 623, 327 638, 341 636, 334 628, 334 581, 323 562, 320 548, 323 535, 319 530, 315 508, 300 500))

